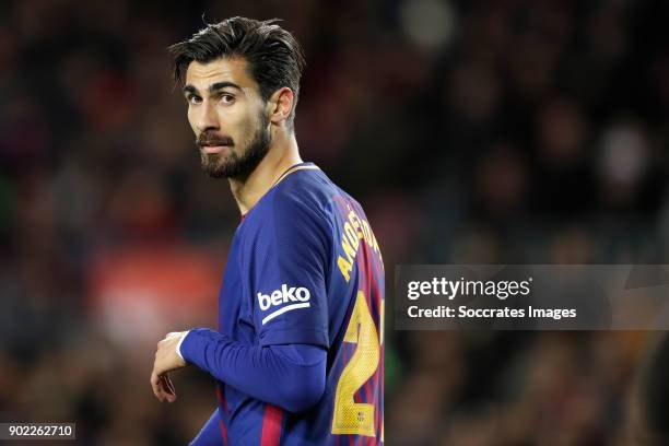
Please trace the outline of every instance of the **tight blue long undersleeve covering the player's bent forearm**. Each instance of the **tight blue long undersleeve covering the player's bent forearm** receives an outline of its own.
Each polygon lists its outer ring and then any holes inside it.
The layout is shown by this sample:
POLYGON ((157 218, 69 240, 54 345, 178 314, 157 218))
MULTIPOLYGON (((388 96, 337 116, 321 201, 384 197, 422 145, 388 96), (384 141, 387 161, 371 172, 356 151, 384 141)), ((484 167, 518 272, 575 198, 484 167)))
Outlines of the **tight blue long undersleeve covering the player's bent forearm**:
POLYGON ((290 412, 314 406, 325 391, 327 351, 310 344, 248 345, 216 331, 190 330, 184 360, 259 400, 290 412))

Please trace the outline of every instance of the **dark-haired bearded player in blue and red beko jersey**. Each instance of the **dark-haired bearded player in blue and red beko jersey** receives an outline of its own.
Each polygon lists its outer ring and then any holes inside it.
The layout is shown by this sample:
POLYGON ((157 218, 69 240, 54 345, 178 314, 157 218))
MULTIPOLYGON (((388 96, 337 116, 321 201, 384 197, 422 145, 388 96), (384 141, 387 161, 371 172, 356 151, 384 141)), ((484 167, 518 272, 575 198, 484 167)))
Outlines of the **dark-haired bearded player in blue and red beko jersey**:
POLYGON ((384 266, 360 204, 297 150, 304 57, 274 23, 234 17, 171 47, 202 168, 242 212, 219 329, 168 333, 151 374, 189 364, 219 407, 195 445, 383 442, 384 266))

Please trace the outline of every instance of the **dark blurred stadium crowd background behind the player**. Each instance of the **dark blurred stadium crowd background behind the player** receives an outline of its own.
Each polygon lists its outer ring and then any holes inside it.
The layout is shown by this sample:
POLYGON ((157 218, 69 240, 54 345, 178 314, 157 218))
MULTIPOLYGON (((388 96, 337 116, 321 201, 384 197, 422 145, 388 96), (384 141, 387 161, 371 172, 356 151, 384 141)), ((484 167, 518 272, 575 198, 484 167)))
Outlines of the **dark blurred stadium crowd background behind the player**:
MULTIPOLYGON (((366 208, 389 279, 667 262, 666 2, 2 2, 0 421, 177 445, 214 407, 195 371, 175 374, 175 404, 149 386, 166 331, 213 325, 238 222, 169 78, 165 47, 202 13, 297 35, 303 156, 366 208)), ((390 444, 627 444, 653 333, 388 326, 390 444)))

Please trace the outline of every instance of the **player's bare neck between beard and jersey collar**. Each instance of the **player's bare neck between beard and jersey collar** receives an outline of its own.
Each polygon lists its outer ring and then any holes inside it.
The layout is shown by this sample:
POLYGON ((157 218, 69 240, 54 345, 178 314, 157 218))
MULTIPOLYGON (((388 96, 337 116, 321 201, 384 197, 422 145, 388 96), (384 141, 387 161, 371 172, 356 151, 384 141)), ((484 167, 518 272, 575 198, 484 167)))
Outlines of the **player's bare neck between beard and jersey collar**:
POLYGON ((260 164, 244 179, 230 178, 242 215, 246 214, 289 167, 302 163, 294 133, 277 132, 260 164))

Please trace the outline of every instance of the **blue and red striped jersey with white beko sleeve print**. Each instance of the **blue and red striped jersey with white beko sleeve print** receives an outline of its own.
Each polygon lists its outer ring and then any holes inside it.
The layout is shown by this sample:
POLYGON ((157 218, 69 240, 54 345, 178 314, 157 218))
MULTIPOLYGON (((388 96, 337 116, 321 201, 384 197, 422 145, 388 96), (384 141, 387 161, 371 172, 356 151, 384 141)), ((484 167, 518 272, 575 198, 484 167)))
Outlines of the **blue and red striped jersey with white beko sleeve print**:
POLYGON ((290 413, 219 382, 223 443, 383 444, 384 294, 362 207, 314 164, 291 167, 235 232, 219 332, 251 345, 327 349, 326 389, 315 407, 290 413))

